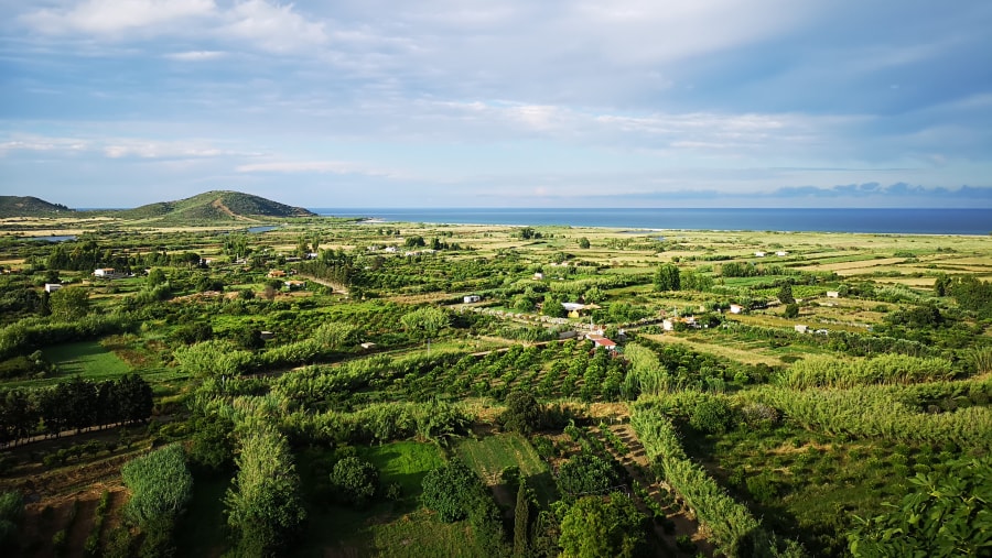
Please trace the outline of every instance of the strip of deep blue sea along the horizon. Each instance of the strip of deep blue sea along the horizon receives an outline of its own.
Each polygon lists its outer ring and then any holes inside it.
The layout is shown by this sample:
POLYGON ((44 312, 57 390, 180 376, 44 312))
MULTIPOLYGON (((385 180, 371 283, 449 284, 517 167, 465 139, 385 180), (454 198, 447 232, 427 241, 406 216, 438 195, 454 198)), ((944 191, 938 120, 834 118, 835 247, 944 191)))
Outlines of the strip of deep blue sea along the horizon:
POLYGON ((628 230, 992 233, 992 209, 312 208, 311 211, 322 216, 365 218, 371 222, 557 225, 628 230))

